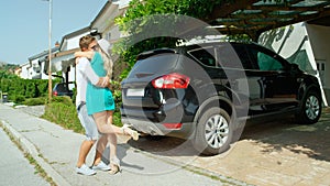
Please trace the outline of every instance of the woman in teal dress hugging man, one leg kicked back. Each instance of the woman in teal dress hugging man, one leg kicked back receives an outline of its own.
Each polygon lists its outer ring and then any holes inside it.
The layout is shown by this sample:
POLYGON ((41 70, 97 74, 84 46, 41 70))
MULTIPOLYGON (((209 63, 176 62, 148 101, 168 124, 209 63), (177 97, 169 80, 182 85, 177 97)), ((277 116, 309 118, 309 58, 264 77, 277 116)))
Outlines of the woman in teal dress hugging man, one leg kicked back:
MULTIPOLYGON (((90 58, 91 68, 99 77, 112 76, 112 61, 108 52, 108 42, 100 40, 97 42, 94 37, 88 44, 88 52, 76 52, 76 57, 90 58)), ((139 139, 139 133, 127 125, 119 128, 112 124, 112 116, 114 111, 114 100, 110 88, 100 88, 88 83, 86 90, 86 107, 88 114, 92 114, 100 133, 108 134, 110 145, 110 174, 120 171, 120 161, 117 157, 117 134, 131 135, 133 140, 139 139)))

